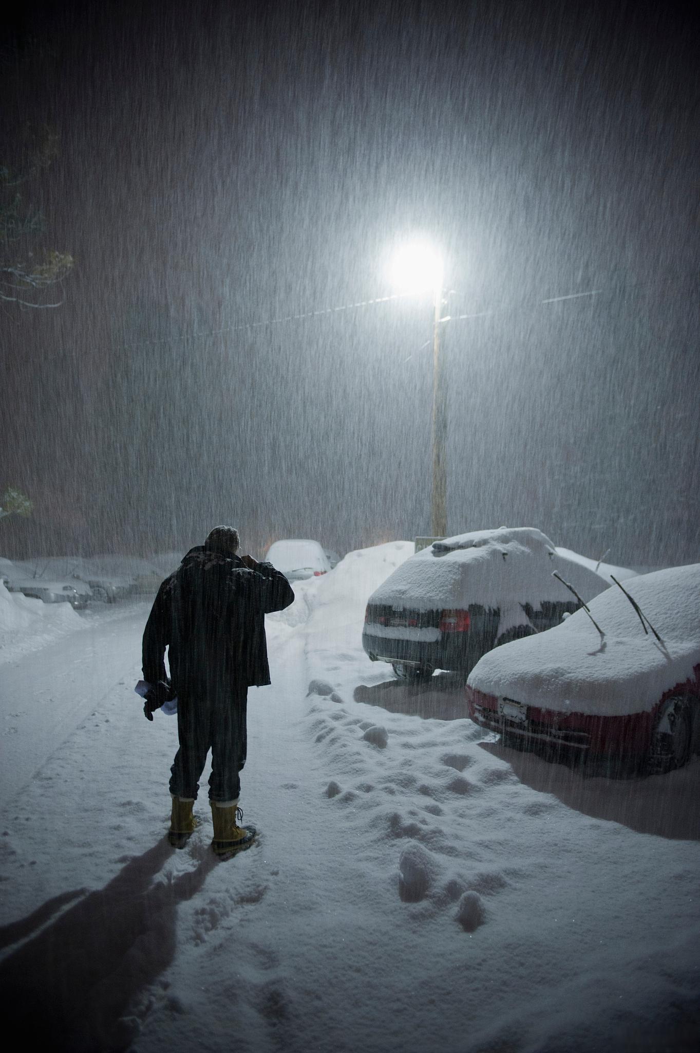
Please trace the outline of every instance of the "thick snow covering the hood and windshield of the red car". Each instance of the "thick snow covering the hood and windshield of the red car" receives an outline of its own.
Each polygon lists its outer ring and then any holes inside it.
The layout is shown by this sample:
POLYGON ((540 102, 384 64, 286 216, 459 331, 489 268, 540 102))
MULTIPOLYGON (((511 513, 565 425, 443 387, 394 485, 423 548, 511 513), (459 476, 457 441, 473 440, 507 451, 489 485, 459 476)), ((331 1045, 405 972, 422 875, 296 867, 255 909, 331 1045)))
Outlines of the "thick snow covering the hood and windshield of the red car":
POLYGON ((644 633, 622 591, 613 585, 585 611, 537 636, 486 654, 468 683, 561 713, 623 716, 650 711, 661 695, 693 677, 700 662, 700 563, 624 582, 661 636, 644 633))

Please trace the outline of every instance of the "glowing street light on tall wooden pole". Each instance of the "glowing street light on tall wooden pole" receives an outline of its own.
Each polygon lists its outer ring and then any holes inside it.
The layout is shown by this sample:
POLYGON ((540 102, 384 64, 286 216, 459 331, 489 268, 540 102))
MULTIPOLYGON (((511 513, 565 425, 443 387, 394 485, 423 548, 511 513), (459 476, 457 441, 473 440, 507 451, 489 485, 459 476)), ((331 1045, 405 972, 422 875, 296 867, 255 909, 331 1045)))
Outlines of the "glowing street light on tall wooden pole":
POLYGON ((428 240, 415 239, 402 245, 393 257, 391 278, 400 293, 433 295, 433 480, 430 499, 430 529, 433 537, 447 536, 447 392, 440 358, 442 322, 442 260, 428 240))

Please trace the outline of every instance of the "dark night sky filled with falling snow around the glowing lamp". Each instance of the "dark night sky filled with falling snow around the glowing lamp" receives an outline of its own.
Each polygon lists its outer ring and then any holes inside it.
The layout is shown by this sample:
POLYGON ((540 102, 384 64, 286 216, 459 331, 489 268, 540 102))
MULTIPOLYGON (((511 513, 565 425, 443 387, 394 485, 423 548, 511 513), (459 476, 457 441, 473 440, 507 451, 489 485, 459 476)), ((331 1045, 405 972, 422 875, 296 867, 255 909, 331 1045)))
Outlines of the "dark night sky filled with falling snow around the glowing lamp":
POLYGON ((447 327, 450 530, 699 559, 683 11, 27 4, 3 142, 60 133, 26 194, 77 262, 60 309, 0 312, 0 486, 36 503, 3 554, 426 532, 430 304, 270 323, 389 294, 418 230, 451 313, 490 312, 447 327))

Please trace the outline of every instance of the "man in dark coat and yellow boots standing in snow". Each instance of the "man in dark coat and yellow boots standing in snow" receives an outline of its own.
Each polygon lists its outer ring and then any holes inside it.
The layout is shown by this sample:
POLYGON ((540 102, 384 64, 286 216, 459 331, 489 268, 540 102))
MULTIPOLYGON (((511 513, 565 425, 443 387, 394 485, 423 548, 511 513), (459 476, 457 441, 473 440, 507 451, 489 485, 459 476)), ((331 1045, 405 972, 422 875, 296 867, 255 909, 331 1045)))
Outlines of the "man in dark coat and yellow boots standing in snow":
POLYGON ((270 682, 265 615, 294 599, 280 571, 238 556, 238 531, 214 526, 162 583, 143 634, 143 675, 152 686, 144 713, 152 720, 155 709, 178 697, 170 843, 181 848, 194 830, 192 807, 211 750, 212 845, 220 855, 248 843, 255 833, 238 824, 247 694, 249 687, 270 682))

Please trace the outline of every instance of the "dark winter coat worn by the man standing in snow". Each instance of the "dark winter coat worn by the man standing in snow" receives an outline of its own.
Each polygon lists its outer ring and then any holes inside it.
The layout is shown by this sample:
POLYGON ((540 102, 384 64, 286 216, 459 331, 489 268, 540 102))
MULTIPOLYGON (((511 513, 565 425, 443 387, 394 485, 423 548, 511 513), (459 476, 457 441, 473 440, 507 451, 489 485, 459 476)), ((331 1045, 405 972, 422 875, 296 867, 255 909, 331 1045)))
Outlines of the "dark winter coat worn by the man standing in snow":
POLYGON ((294 594, 271 563, 254 571, 238 556, 190 549, 159 589, 143 634, 143 675, 170 679, 183 696, 228 696, 236 686, 270 682, 265 615, 282 611, 294 594))

